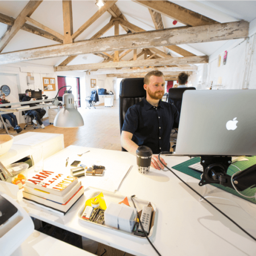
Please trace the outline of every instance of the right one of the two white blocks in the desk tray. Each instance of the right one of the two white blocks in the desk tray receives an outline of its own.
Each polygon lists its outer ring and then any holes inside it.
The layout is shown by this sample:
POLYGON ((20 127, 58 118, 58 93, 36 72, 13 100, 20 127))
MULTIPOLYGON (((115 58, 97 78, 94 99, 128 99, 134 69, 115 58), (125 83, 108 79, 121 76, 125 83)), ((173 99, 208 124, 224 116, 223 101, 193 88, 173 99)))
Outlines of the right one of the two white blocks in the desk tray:
POLYGON ((122 209, 118 214, 118 226, 119 229, 125 232, 133 232, 133 226, 135 224, 136 210, 126 205, 121 205, 122 209))

